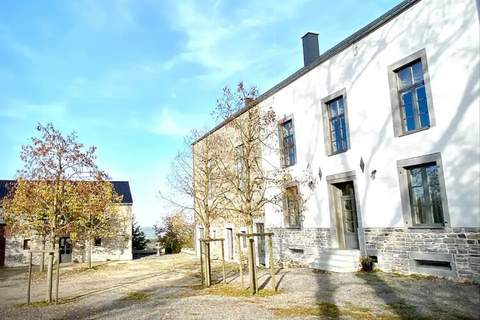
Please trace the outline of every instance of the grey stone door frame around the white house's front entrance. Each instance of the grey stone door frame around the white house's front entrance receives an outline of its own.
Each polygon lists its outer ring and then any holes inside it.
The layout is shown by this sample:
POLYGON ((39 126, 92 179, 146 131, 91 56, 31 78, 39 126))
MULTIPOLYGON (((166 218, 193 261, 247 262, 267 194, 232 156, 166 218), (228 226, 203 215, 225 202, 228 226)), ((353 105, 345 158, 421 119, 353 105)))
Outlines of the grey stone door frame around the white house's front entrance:
POLYGON ((332 174, 326 177, 327 185, 328 185, 328 203, 330 208, 330 246, 331 248, 339 248, 338 243, 338 234, 337 234, 337 210, 336 210, 336 203, 335 203, 335 190, 336 188, 334 185, 338 183, 344 182, 352 182, 353 184, 353 192, 355 196, 355 206, 356 206, 356 213, 357 213, 357 236, 358 236, 358 247, 361 252, 365 252, 365 235, 363 232, 363 219, 362 219, 362 212, 360 210, 360 202, 359 202, 359 195, 358 195, 358 187, 357 187, 357 178, 355 175, 355 170, 353 171, 346 171, 342 173, 332 174))

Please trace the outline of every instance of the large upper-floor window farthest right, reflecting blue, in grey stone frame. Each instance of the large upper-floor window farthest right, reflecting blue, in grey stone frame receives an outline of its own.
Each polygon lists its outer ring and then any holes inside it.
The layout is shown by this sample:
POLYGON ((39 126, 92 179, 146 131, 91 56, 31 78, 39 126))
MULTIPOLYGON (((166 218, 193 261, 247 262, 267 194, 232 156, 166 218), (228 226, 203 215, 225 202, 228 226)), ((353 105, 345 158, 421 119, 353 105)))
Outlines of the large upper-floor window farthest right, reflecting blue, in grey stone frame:
POLYGON ((395 136, 428 129, 434 124, 425 50, 389 67, 395 136))

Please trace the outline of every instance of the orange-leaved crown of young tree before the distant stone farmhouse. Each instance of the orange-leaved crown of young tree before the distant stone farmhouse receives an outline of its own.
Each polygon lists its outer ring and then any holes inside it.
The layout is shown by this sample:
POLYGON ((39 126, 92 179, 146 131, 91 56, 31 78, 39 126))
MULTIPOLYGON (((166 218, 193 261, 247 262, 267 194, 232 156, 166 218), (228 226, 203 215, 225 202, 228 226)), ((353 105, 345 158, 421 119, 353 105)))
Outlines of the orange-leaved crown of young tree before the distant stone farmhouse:
MULTIPOLYGON (((3 215, 9 232, 40 236, 43 248, 49 242, 55 250, 57 237, 77 228, 79 199, 93 201, 105 192, 94 183, 82 184, 79 192, 79 181, 102 182, 107 175, 95 164, 96 148, 86 149, 76 133, 63 136, 52 124, 38 124, 36 129, 40 136, 22 147, 24 167, 4 199, 3 215)), ((85 205, 93 206, 88 201, 85 205)))

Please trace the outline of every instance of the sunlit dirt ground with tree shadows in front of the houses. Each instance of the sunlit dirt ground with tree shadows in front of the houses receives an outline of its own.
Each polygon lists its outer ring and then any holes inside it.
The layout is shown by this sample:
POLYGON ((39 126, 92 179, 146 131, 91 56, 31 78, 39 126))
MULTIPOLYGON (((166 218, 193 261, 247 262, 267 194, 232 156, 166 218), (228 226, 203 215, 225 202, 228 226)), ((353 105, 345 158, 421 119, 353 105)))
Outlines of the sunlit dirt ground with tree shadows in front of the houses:
MULTIPOLYGON (((279 269, 278 293, 262 270, 264 288, 240 289, 235 265, 227 285, 200 286, 191 255, 61 269, 60 303, 46 305, 45 276, 34 274, 26 306, 25 268, 0 269, 0 319, 478 319, 480 287, 441 279, 375 273, 279 269)), ((215 265, 220 280, 220 265, 215 265)))

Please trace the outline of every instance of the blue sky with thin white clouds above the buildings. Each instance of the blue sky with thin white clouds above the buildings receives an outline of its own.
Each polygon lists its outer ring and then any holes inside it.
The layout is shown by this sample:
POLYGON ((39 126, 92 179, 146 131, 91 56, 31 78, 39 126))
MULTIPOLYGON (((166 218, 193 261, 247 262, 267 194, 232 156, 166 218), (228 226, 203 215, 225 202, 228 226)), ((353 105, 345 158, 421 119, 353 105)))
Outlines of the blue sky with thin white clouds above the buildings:
POLYGON ((182 137, 213 125, 223 86, 266 91, 303 65, 305 32, 325 51, 399 2, 3 0, 0 179, 15 177, 35 124, 52 122, 98 147, 150 226, 182 137))

